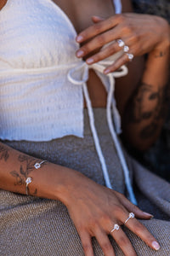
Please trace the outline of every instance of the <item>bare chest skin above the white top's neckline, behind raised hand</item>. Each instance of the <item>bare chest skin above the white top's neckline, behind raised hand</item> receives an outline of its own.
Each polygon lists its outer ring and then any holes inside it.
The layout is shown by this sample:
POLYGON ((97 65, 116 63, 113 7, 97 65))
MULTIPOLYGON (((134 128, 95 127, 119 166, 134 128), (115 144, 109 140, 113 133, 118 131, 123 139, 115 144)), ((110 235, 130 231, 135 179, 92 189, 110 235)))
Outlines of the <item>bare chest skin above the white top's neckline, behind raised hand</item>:
POLYGON ((93 15, 108 18, 114 14, 112 0, 53 0, 53 2, 63 9, 77 32, 93 24, 91 20, 93 15))

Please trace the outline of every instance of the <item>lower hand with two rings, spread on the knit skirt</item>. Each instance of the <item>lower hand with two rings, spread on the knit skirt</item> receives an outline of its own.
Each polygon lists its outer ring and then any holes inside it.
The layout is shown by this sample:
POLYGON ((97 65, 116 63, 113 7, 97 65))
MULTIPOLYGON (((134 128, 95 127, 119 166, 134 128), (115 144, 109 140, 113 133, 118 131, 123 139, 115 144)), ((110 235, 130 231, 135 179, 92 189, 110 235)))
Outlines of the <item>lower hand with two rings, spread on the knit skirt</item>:
MULTIPOLYGON (((94 256, 91 241, 93 236, 99 242, 105 256, 114 256, 114 248, 111 246, 108 235, 113 237, 124 255, 137 255, 121 227, 112 233, 111 230, 115 224, 124 224, 129 212, 133 212, 136 218, 152 217, 149 213, 139 210, 124 195, 94 183, 81 173, 71 176, 71 183, 67 186, 65 205, 81 237, 86 256, 94 256)), ((127 221, 127 228, 149 247, 158 250, 159 244, 154 236, 136 218, 127 221)))

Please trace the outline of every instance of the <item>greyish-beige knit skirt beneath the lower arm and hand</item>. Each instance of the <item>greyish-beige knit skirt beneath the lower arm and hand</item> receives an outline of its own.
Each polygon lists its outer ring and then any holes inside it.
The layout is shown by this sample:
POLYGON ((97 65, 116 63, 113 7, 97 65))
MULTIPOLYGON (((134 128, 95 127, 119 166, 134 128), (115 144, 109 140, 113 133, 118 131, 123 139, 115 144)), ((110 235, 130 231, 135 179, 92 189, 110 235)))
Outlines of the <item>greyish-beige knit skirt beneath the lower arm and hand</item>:
MULTIPOLYGON (((114 189, 126 195, 122 166, 108 130, 105 109, 94 109, 99 140, 114 189)), ((97 183, 105 185, 94 140, 84 114, 84 138, 64 137, 51 142, 4 142, 22 152, 71 167, 97 183)), ((145 170, 127 156, 139 207, 155 218, 141 221, 161 244, 158 252, 123 227, 138 255, 170 255, 170 184, 145 170)), ((115 241, 116 255, 123 255, 115 241)), ((104 255, 93 238, 94 253, 104 255)), ((17 195, 0 190, 0 255, 1 256, 82 256, 77 230, 66 207, 59 201, 17 195)))

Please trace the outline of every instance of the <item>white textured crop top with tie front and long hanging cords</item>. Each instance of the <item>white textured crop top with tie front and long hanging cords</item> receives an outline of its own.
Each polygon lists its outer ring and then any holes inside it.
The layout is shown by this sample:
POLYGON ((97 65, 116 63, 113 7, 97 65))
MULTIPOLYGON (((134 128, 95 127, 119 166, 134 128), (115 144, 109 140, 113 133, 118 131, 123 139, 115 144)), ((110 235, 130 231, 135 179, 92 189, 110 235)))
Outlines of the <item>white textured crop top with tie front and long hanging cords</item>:
MULTIPOLYGON (((116 13, 121 13, 121 1, 113 2, 116 13)), ((113 93, 115 78, 126 75, 127 67, 122 67, 121 72, 103 74, 105 66, 120 53, 89 67, 75 55, 79 48, 76 36, 71 20, 52 0, 8 0, 0 11, 0 138, 49 141, 67 135, 83 137, 84 94, 105 183, 111 188, 86 85, 88 70, 93 68, 108 91, 108 125, 131 201, 135 203, 111 120, 112 108, 116 131, 120 131, 113 93)))

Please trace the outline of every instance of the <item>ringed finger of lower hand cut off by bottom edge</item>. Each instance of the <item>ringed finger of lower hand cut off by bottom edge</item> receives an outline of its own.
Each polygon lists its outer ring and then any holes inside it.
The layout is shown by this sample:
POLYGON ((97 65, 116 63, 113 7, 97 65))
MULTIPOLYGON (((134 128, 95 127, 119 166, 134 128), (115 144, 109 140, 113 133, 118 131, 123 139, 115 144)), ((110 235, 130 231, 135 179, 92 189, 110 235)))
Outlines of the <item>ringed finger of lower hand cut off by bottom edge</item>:
POLYGON ((129 241, 121 228, 119 228, 119 230, 111 232, 111 236, 116 241, 118 246, 122 249, 122 252, 125 256, 137 256, 133 249, 132 243, 129 241))

